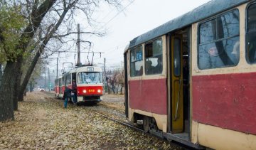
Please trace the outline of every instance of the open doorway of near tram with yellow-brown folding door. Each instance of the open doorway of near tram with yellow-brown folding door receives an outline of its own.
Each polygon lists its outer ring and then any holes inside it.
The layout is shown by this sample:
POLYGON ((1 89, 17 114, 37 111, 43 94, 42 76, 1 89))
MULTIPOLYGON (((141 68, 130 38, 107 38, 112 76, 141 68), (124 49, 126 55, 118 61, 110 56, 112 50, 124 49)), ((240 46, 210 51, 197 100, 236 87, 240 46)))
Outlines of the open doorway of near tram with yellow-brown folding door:
POLYGON ((190 98, 189 56, 191 28, 169 33, 168 87, 169 87, 169 132, 189 141, 190 98))

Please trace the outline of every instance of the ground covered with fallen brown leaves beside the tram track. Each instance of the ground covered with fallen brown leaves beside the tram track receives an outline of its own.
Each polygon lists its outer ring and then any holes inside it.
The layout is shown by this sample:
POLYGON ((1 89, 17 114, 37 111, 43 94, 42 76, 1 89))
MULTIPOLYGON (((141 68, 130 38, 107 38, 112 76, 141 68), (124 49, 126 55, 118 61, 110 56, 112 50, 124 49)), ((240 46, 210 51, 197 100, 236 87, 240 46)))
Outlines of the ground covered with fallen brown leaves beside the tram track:
MULTIPOLYGON (((28 93, 15 120, 0 122, 0 149, 181 149, 75 106, 47 92, 28 93)), ((96 106, 97 107, 97 106, 96 106)))

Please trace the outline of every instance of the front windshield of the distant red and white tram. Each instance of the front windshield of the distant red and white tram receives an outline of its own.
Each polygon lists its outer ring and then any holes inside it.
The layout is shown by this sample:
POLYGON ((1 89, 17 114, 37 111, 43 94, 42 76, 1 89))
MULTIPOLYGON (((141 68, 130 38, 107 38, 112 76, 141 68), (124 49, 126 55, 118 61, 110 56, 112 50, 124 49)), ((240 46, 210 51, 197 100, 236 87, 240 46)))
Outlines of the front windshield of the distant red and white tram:
POLYGON ((78 73, 78 84, 102 83, 102 73, 99 72, 82 72, 78 73))

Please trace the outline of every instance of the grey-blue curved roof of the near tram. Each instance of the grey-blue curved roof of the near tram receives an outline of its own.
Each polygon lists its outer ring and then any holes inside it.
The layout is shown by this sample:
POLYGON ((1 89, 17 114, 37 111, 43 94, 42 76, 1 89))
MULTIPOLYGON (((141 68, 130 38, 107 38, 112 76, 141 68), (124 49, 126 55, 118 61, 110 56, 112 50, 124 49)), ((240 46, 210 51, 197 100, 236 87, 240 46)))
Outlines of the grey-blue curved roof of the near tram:
POLYGON ((208 3, 203 4, 202 6, 199 6, 198 8, 193 9, 186 14, 183 14, 182 16, 174 18, 171 21, 168 21, 163 25, 152 29, 151 31, 148 31, 141 36, 134 38, 124 49, 124 53, 126 53, 128 49, 134 48, 137 45, 145 43, 146 41, 151 41, 152 39, 163 36, 166 33, 170 33, 171 31, 185 28, 186 26, 190 26, 192 23, 202 21, 203 19, 209 18, 210 16, 214 16, 215 14, 221 13, 240 4, 244 4, 248 1, 250 0, 208 1, 208 3))

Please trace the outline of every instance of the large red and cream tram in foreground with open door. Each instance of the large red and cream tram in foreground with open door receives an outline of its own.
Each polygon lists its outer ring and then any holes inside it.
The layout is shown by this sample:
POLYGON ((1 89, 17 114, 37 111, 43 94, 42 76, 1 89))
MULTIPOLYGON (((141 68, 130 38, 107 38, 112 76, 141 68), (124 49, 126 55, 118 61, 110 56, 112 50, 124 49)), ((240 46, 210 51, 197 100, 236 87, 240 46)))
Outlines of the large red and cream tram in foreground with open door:
POLYGON ((256 1, 213 0, 124 50, 125 113, 196 149, 256 149, 256 1))

